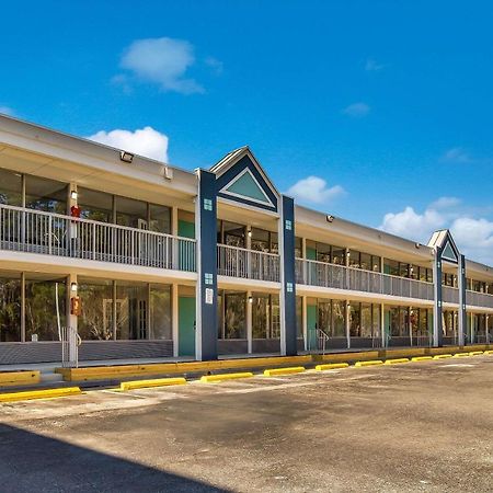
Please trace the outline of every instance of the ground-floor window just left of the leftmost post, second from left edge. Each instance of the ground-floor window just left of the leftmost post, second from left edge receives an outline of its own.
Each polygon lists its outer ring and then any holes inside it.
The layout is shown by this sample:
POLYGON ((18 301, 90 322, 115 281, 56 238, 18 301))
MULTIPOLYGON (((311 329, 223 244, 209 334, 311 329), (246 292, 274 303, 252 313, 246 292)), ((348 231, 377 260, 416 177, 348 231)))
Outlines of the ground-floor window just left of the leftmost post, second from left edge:
POLYGON ((66 279, 25 280, 25 340, 58 341, 66 326, 66 279))

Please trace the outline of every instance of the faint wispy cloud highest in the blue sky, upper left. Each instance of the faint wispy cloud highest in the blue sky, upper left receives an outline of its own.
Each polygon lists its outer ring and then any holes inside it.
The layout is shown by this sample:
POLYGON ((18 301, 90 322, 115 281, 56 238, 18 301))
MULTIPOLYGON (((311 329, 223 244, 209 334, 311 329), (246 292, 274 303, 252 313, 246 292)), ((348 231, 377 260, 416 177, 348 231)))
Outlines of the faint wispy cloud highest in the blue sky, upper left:
POLYGON ((204 92, 200 84, 186 77, 194 64, 191 43, 158 37, 135 41, 122 57, 121 67, 141 80, 159 84, 163 91, 192 94, 204 92))

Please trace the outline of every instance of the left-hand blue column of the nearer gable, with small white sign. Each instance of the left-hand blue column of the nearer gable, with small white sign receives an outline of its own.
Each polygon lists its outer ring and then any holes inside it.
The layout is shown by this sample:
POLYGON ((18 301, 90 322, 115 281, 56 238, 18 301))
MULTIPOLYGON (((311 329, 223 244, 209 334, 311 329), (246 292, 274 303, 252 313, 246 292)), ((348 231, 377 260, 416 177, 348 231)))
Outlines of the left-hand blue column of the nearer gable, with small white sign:
POLYGON ((197 239, 197 290, 195 357, 217 359, 217 191, 216 175, 197 170, 195 204, 197 239))

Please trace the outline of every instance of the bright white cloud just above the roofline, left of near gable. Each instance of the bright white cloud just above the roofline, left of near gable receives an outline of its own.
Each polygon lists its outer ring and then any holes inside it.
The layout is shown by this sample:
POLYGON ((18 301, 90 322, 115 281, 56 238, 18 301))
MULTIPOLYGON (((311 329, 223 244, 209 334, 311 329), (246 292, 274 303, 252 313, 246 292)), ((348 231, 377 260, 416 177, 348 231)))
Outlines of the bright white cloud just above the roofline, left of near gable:
POLYGON ((158 161, 168 162, 168 136, 154 130, 152 127, 144 127, 135 131, 121 129, 111 131, 101 130, 91 135, 88 139, 158 161))

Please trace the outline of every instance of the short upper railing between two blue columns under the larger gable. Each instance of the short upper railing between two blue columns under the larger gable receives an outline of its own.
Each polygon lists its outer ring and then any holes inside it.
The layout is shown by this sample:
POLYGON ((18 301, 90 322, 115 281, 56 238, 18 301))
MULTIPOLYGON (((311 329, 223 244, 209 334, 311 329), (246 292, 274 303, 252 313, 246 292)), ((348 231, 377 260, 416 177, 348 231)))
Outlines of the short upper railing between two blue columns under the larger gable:
POLYGON ((218 244, 217 273, 222 276, 277 283, 279 282, 279 255, 218 244))

